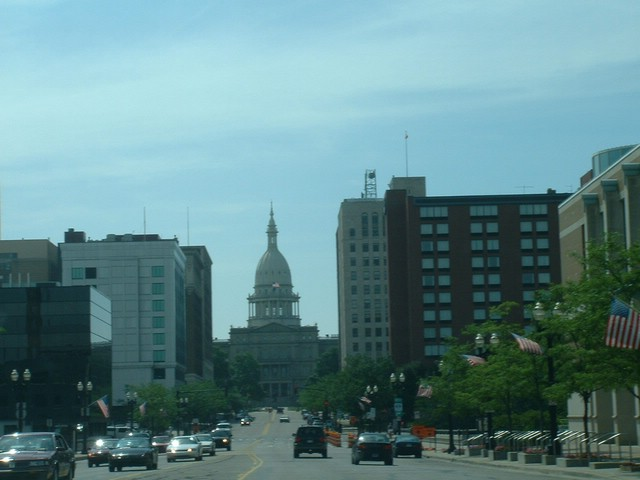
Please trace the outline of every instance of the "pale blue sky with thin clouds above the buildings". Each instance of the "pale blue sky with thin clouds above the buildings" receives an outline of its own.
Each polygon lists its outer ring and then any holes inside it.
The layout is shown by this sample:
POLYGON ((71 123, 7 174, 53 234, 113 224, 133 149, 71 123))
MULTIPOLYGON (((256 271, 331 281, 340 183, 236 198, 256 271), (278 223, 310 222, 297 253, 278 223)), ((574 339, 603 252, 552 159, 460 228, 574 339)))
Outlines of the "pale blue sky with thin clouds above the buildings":
POLYGON ((637 0, 0 0, 0 237, 156 233, 213 260, 213 333, 278 245, 337 334, 340 204, 575 192, 640 143, 637 0))

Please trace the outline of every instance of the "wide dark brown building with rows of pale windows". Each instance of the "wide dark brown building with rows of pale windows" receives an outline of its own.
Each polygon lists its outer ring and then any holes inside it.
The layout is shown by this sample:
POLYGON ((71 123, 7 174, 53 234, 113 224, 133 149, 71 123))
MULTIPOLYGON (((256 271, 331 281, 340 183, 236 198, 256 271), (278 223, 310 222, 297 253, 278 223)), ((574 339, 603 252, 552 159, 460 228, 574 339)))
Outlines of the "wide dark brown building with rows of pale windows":
POLYGON ((428 197, 400 188, 384 200, 389 339, 394 362, 435 370, 447 337, 492 318, 530 319, 536 290, 560 281, 558 205, 568 194, 428 197))

